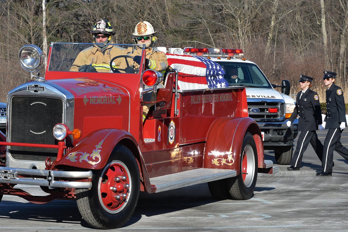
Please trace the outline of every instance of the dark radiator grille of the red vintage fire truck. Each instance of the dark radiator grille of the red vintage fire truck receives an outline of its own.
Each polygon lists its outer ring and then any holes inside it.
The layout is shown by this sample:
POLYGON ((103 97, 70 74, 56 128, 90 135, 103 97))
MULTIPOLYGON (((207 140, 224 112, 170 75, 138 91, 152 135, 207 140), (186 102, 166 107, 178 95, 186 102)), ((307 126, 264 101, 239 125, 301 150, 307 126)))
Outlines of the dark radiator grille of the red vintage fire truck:
MULTIPOLYGON (((58 98, 20 96, 11 100, 9 142, 58 144, 52 129, 63 121, 63 102, 58 98)), ((10 154, 16 160, 55 160, 58 149, 11 146, 10 154)))

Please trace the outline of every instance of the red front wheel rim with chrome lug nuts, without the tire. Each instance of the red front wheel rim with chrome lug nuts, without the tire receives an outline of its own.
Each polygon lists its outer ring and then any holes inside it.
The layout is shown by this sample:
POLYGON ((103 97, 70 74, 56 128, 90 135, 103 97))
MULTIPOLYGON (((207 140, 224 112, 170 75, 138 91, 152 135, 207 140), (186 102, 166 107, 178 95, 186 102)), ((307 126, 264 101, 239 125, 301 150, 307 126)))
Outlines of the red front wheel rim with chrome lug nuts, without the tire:
POLYGON ((132 180, 127 166, 121 161, 112 161, 99 179, 99 199, 109 213, 117 213, 127 204, 132 180))

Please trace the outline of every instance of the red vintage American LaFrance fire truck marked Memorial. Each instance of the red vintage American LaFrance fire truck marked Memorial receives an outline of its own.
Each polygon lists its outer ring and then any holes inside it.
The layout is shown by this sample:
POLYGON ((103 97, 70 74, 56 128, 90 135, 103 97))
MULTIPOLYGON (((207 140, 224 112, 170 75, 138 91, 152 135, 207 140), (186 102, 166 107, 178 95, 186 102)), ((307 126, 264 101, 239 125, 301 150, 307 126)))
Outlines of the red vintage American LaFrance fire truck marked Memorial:
POLYGON ((0 199, 73 199, 88 224, 113 229, 132 216, 140 191, 208 183, 215 198, 244 200, 252 197, 258 172, 279 171, 264 160, 244 87, 181 90, 177 70, 164 77, 145 70, 144 48, 138 70, 126 62, 133 57, 118 56, 111 57, 110 73, 69 71, 90 46, 52 43, 45 77, 37 73, 41 50, 26 45, 19 51, 33 81, 8 94, 0 199), (128 67, 119 73, 115 59, 128 67), (164 88, 157 88, 163 79, 164 88), (157 101, 144 101, 150 91, 157 101), (142 122, 148 103, 155 106, 142 122), (40 186, 47 195, 31 195, 17 184, 40 186))

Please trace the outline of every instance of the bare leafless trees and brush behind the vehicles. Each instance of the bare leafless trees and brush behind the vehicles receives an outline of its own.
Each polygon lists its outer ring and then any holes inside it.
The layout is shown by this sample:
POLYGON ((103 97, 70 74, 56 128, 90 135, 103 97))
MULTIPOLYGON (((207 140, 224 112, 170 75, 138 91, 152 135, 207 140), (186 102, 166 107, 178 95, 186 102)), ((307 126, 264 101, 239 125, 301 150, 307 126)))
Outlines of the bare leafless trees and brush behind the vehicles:
MULTIPOLYGON (((131 43, 137 22, 158 31, 158 46, 241 48, 272 83, 314 77, 324 99, 323 71, 338 73, 347 92, 347 0, 0 0, 0 101, 29 80, 18 62, 24 44, 45 53, 50 42, 92 42, 100 18, 116 43, 131 43)), ((323 101, 323 100, 322 100, 323 101)))

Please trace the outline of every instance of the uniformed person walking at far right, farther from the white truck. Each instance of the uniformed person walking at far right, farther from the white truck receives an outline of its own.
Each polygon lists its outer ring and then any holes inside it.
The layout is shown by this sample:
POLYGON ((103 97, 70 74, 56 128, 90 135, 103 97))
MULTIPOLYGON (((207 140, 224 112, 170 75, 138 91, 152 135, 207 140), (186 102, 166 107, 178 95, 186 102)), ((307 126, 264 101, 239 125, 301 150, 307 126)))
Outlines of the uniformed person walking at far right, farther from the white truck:
POLYGON ((341 87, 335 85, 337 73, 324 71, 324 85, 326 89, 326 116, 319 128, 327 131, 322 160, 322 171, 316 176, 331 176, 333 167, 333 151, 348 160, 348 149, 341 143, 341 133, 347 126, 345 98, 341 87))

